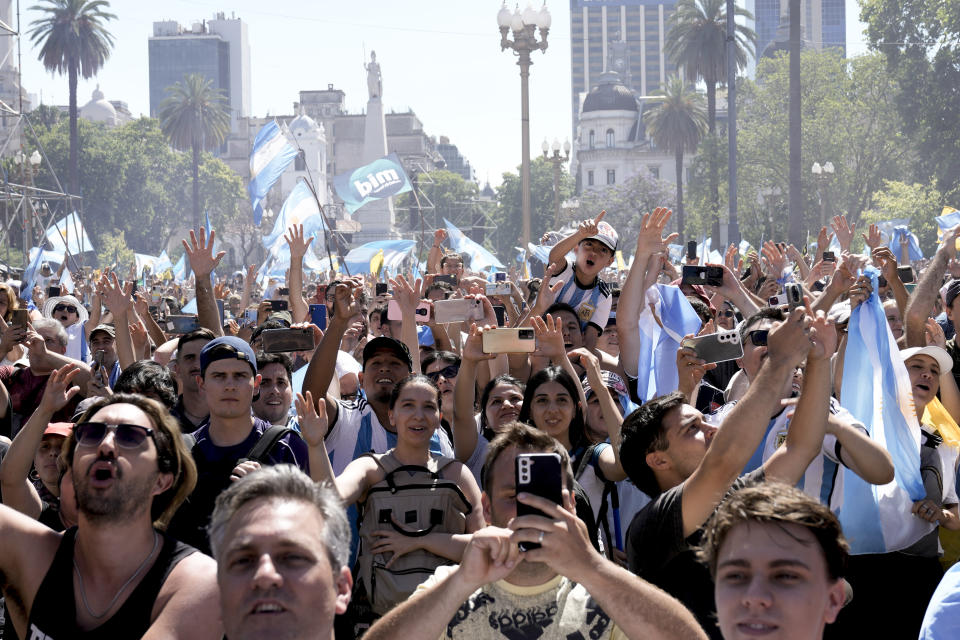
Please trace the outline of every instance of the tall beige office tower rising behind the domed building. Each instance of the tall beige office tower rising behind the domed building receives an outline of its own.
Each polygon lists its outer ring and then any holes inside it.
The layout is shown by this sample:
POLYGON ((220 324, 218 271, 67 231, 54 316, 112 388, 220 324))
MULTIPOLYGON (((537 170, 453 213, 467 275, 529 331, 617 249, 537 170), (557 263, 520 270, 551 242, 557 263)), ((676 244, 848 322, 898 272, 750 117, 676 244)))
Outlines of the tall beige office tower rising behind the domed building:
POLYGON ((675 4, 675 0, 570 0, 574 137, 581 102, 604 71, 616 71, 640 96, 660 89, 675 71, 663 50, 675 4))

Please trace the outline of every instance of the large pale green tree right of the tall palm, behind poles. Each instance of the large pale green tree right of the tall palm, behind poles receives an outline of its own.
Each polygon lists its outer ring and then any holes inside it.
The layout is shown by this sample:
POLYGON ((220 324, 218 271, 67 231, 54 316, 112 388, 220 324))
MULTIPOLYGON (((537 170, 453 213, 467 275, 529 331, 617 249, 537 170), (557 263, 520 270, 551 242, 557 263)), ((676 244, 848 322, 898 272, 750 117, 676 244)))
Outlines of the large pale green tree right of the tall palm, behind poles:
MULTIPOLYGON (((844 60, 835 51, 805 50, 801 86, 801 228, 815 236, 820 227, 820 195, 826 199, 828 218, 842 213, 857 222, 884 180, 909 173, 915 155, 894 103, 896 83, 880 56, 844 60), (810 167, 827 161, 834 164, 836 173, 818 184, 810 167)), ((789 193, 788 87, 786 55, 761 60, 757 81, 742 80, 739 87, 737 207, 744 237, 753 243, 761 236, 787 235, 787 215, 779 207, 780 199, 789 193)), ((694 207, 709 206, 705 183, 703 172, 695 170, 688 189, 694 207)))

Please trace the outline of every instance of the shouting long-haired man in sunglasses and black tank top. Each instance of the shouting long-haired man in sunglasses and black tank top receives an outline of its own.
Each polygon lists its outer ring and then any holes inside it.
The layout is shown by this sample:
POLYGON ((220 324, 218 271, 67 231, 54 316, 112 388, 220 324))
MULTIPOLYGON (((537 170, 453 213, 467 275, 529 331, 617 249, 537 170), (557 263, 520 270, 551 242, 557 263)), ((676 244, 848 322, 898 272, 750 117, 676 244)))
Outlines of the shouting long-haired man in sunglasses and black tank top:
POLYGON ((78 525, 0 507, 0 572, 19 637, 220 638, 216 563, 163 533, 196 479, 176 421, 152 400, 98 400, 65 446, 78 525))

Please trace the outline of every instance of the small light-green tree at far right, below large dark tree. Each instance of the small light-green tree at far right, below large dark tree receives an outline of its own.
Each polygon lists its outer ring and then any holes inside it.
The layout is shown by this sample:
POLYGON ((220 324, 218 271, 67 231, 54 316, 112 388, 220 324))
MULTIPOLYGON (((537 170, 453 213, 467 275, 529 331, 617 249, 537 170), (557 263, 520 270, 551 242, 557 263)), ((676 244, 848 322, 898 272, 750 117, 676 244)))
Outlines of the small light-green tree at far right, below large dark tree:
MULTIPOLYGON (((870 209, 863 212, 863 223, 883 222, 905 218, 910 221, 910 231, 916 234, 924 255, 937 250, 937 221, 944 205, 943 194, 934 181, 930 184, 884 180, 883 189, 873 194, 870 209)), ((898 252, 899 250, 895 249, 898 252)))

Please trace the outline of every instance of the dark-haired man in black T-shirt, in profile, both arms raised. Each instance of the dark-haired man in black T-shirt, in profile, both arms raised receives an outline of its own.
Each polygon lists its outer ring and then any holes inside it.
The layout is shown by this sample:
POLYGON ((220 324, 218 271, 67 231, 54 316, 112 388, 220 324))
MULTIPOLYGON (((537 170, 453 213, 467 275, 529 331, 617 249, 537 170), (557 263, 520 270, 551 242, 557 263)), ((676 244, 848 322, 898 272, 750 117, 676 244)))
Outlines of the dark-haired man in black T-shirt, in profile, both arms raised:
POLYGON ((681 393, 661 396, 626 417, 620 460, 630 480, 653 501, 631 522, 625 541, 630 570, 683 602, 711 638, 719 639, 713 583, 694 553, 704 523, 731 490, 774 478, 796 483, 820 452, 830 399, 830 356, 836 331, 804 307, 769 334, 754 383, 722 428, 706 423, 681 393), (758 470, 740 477, 760 443, 779 390, 807 359, 797 426, 758 470))

